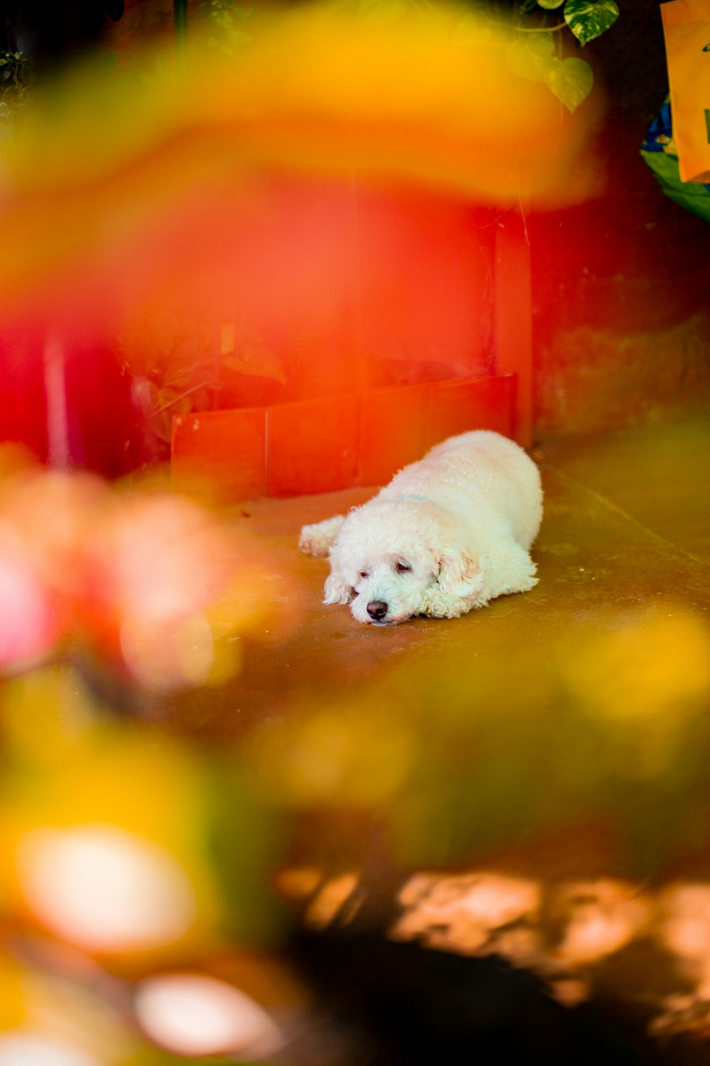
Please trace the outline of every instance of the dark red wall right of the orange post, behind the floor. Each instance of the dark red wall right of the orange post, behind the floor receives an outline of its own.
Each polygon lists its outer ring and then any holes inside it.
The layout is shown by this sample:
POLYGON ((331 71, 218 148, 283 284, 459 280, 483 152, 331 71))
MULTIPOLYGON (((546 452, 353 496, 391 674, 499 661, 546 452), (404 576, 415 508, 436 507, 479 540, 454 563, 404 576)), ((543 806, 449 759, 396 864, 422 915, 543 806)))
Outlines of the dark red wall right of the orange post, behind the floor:
POLYGON ((667 93, 659 9, 626 0, 583 50, 607 113, 599 195, 529 221, 538 436, 673 417, 710 402, 710 231, 639 149, 667 93))

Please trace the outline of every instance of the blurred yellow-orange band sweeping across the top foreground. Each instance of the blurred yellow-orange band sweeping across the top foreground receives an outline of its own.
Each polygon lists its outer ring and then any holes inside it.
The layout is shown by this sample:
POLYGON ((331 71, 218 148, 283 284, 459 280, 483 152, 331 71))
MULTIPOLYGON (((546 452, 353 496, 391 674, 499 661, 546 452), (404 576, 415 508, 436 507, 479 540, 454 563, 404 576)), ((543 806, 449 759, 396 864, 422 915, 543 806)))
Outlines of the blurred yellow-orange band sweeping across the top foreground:
POLYGON ((594 109, 562 122, 551 92, 514 72, 515 39, 455 12, 376 25, 320 5, 264 18, 236 56, 196 35, 185 64, 73 71, 3 145, 4 310, 73 307, 85 328, 166 279, 188 298, 194 281, 200 298, 246 284, 278 301, 252 253, 283 174, 567 201, 594 109))

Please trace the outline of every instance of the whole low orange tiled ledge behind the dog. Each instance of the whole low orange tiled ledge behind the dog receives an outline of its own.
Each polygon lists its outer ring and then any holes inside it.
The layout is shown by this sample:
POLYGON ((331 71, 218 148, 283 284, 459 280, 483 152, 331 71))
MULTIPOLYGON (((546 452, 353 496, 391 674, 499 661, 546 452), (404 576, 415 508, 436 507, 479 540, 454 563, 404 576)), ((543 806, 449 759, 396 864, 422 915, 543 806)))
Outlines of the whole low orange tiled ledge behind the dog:
POLYGON ((217 503, 382 485, 467 430, 515 432, 515 374, 176 418, 172 485, 217 503))

